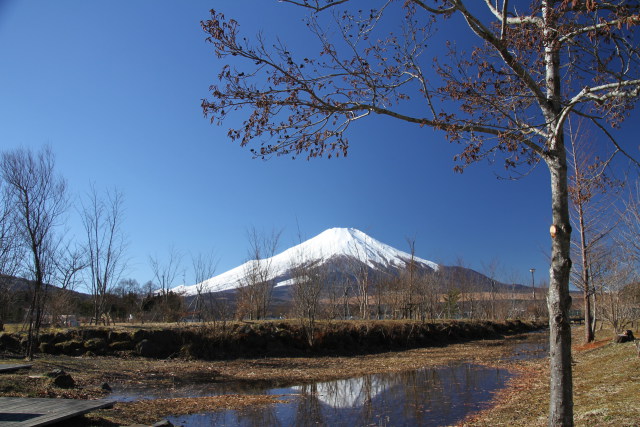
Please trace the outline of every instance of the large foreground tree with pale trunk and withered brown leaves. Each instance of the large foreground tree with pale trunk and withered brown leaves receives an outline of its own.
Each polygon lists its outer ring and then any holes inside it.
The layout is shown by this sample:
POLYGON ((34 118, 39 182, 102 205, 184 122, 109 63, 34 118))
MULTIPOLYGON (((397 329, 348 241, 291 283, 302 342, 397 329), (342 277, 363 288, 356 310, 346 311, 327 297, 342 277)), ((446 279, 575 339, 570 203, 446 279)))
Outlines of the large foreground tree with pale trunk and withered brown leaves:
POLYGON ((262 35, 253 43, 239 35, 237 21, 212 11, 202 27, 216 55, 245 61, 222 68, 212 99, 202 103, 205 114, 218 123, 248 110, 228 134, 242 145, 261 141, 253 152, 263 158, 346 155, 350 125, 384 115, 442 130, 464 144, 458 170, 488 156, 504 156, 509 168, 542 160, 551 178, 552 214, 549 424, 573 425, 565 123, 571 115, 586 117, 614 150, 625 152, 608 129, 626 117, 640 93, 634 42, 640 6, 621 0, 532 0, 528 6, 408 0, 362 10, 348 0, 283 2, 312 12, 308 28, 320 55, 295 55, 262 35), (330 11, 332 19, 325 19, 321 12, 330 11), (394 13, 404 19, 389 34, 385 24, 394 13), (466 29, 475 43, 462 49, 447 40, 448 54, 432 61, 430 37, 445 25, 466 29))

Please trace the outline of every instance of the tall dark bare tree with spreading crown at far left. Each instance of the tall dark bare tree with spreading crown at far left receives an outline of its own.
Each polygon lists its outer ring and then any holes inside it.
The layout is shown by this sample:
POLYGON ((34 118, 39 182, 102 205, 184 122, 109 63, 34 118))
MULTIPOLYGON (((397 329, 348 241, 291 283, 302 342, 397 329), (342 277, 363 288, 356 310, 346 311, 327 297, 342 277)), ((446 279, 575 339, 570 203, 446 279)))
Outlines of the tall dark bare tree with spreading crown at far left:
POLYGON ((22 268, 34 284, 26 317, 26 357, 32 359, 47 287, 55 271, 55 231, 68 207, 66 181, 55 173, 55 158, 49 147, 37 153, 28 149, 6 151, 0 171, 7 186, 8 206, 16 215, 19 243, 29 253, 22 268))

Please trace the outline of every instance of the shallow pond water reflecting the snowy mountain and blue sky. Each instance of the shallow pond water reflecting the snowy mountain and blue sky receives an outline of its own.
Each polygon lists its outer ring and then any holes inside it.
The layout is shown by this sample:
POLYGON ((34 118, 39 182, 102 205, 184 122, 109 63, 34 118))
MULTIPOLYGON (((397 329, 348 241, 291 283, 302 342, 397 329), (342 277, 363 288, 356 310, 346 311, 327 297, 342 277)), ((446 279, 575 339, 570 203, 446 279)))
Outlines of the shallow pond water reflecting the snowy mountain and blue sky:
MULTIPOLYGON (((509 345, 509 360, 547 354, 546 334, 533 334, 509 345)), ((271 394, 282 396, 286 403, 168 419, 186 426, 450 425, 485 407, 511 377, 506 369, 460 363, 279 389, 198 384, 173 389, 170 397, 271 394)), ((167 394, 166 390, 127 389, 116 390, 111 397, 136 400, 167 394)))

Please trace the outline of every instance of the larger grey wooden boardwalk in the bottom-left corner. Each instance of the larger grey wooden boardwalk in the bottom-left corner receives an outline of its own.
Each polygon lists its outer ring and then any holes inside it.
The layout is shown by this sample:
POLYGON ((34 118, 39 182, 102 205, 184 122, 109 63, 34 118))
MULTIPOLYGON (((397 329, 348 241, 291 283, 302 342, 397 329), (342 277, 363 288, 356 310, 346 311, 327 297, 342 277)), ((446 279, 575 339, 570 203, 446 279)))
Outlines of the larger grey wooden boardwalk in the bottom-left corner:
POLYGON ((110 408, 113 400, 0 397, 0 427, 44 426, 110 408))

